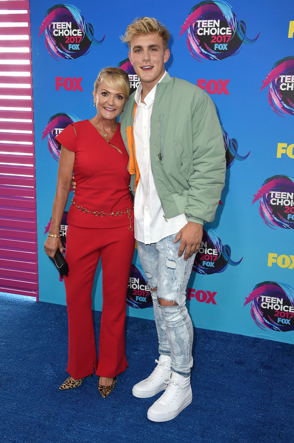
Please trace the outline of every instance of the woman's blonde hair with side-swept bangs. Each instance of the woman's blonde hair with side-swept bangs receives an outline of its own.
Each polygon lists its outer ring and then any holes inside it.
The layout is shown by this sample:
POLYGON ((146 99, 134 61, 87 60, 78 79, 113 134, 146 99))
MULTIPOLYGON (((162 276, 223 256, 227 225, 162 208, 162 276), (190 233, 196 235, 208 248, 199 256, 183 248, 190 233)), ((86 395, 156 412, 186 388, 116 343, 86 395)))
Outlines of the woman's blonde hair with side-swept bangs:
POLYGON ((121 90, 126 96, 126 100, 130 96, 130 83, 129 76, 123 69, 120 68, 103 68, 94 83, 94 91, 96 93, 98 86, 101 82, 105 82, 107 86, 112 89, 121 90))

